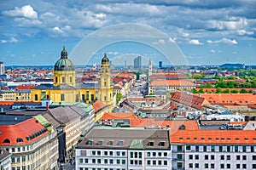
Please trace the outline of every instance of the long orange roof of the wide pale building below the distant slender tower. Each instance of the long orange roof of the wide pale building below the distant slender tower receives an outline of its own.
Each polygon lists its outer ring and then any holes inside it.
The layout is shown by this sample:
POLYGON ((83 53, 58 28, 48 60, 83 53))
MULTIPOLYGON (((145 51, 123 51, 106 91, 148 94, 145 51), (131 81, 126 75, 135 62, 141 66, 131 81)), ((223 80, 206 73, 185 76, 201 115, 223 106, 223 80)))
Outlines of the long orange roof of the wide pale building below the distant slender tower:
POLYGON ((154 80, 149 86, 195 86, 195 84, 188 80, 154 80))

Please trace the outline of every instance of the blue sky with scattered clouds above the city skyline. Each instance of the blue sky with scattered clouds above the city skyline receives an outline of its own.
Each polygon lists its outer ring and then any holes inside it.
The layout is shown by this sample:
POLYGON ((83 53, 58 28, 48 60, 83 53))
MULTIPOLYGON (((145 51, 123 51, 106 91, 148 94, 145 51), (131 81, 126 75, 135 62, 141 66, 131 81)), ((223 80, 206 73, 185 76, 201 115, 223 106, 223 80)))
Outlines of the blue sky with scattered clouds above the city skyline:
MULTIPOLYGON (((0 61, 5 65, 54 65, 63 45, 75 65, 85 65, 84 58, 99 63, 104 52, 121 64, 127 55, 130 63, 137 55, 157 63, 167 53, 160 46, 172 43, 189 65, 256 65, 256 0, 0 0, 0 9, 0 61), (124 26, 129 29, 117 29, 124 26), (101 34, 110 28, 115 39, 99 46, 111 38, 101 34), (78 47, 83 56, 76 56, 78 47)), ((173 47, 166 58, 176 63, 173 47)))

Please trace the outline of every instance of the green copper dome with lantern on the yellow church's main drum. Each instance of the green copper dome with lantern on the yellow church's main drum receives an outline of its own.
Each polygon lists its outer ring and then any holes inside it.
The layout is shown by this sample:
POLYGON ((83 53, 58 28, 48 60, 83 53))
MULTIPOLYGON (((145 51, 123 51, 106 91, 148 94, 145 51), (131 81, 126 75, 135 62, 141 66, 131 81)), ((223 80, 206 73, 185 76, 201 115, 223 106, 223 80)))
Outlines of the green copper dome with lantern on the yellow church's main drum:
POLYGON ((73 62, 67 59, 67 50, 63 47, 61 51, 61 59, 55 63, 55 71, 74 71, 73 62))

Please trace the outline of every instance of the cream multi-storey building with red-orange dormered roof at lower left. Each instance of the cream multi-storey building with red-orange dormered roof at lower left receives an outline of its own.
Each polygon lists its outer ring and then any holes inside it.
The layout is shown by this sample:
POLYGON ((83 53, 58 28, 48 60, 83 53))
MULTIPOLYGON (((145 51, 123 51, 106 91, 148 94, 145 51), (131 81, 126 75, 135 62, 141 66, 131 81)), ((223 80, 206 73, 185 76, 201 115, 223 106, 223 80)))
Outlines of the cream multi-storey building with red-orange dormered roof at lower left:
POLYGON ((11 169, 50 169, 49 131, 34 117, 14 122, 0 126, 0 146, 12 154, 11 169))

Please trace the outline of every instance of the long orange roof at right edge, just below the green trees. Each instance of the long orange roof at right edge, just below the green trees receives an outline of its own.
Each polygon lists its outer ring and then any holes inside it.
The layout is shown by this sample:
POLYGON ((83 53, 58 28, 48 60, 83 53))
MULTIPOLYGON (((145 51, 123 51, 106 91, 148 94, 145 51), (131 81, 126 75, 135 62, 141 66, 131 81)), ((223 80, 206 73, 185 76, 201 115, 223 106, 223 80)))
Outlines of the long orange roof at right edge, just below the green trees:
POLYGON ((211 104, 256 104, 255 94, 199 94, 211 104))

